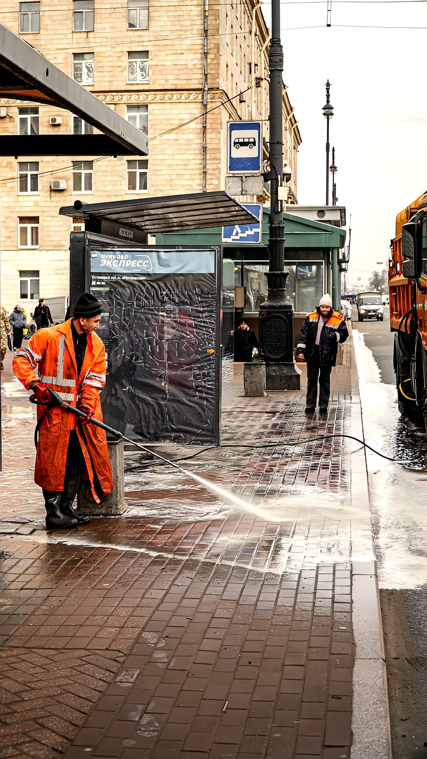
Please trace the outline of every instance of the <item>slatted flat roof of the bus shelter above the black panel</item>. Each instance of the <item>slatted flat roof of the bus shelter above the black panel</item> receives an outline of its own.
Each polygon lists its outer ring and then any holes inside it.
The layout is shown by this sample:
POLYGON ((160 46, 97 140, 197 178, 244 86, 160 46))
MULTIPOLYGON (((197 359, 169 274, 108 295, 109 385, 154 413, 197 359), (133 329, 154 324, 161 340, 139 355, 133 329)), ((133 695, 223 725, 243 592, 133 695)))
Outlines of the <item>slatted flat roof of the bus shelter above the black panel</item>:
POLYGON ((150 235, 258 222, 256 216, 224 191, 115 200, 83 206, 81 201, 76 201, 74 206, 62 206, 59 214, 74 219, 106 219, 150 235))

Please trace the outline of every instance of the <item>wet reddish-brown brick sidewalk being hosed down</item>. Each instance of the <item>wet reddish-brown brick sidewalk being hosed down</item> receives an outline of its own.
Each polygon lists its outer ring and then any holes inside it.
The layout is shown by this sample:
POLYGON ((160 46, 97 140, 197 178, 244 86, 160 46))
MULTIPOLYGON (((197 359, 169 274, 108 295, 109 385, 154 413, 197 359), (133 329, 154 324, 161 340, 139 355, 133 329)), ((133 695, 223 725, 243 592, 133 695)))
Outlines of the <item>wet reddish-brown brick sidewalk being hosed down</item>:
MULTIPOLYGON (((43 530, 34 409, 10 358, 0 756, 348 757, 359 641, 350 559, 375 600, 365 459, 357 442, 315 438, 357 428, 350 341, 327 416, 305 417, 303 390, 244 398, 237 365, 224 447, 160 446, 197 454, 182 465, 232 497, 128 451, 128 511, 60 534, 43 530)), ((369 635, 362 607, 357 618, 369 635)), ((368 759, 368 695, 358 698, 353 753, 368 759)))

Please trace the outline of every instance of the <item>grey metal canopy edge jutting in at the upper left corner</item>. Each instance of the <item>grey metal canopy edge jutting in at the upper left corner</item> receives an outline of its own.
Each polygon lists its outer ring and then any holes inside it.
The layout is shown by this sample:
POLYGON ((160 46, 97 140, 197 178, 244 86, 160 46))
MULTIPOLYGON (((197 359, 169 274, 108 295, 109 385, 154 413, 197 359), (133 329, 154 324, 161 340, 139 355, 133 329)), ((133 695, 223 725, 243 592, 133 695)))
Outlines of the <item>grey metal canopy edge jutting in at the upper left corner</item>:
MULTIPOLYGON (((126 154, 148 155, 148 140, 143 132, 125 121, 122 116, 119 116, 88 90, 85 90, 81 84, 56 68, 40 52, 37 52, 24 39, 11 32, 4 24, 0 24, 0 97, 58 106, 80 116, 88 124, 92 124, 93 127, 102 131, 103 134, 101 135, 74 135, 74 137, 92 138, 90 143, 84 139, 79 141, 83 155, 89 154, 87 152, 89 144, 90 155, 124 154, 119 146, 125 148, 126 154), (106 146, 109 146, 109 143, 106 143, 105 135, 111 138, 109 140, 111 150, 108 151, 104 150, 106 146), (96 137, 102 138, 98 140, 99 145, 96 144, 96 137), (87 147, 84 148, 86 143, 87 147)), ((42 136, 31 137, 23 134, 17 138, 15 135, 2 135, 2 143, 5 143, 4 150, 6 152, 2 150, 3 146, 0 146, 0 155, 27 155, 26 146, 30 150, 34 150, 30 147, 30 141, 35 145, 37 144, 34 137, 42 136), (21 140, 19 150, 16 149, 17 139, 21 140), (14 153, 10 152, 12 142, 14 143, 14 153)), ((72 150, 70 146, 70 135, 56 134, 53 137, 52 146, 49 146, 49 143, 43 144, 44 155, 55 156, 74 153, 74 144, 72 150)), ((42 150, 40 149, 39 154, 41 153, 42 150)), ((28 154, 33 155, 34 153, 28 154)))

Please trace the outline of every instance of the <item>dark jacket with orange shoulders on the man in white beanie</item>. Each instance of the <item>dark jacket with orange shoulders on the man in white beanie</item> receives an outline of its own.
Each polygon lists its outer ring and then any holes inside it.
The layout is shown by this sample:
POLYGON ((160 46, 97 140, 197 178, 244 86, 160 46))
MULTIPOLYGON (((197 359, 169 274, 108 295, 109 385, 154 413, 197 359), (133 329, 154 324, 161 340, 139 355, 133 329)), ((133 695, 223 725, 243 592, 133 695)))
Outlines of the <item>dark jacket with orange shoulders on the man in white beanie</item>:
POLYGON ((319 307, 307 314, 302 324, 296 352, 304 354, 305 361, 316 361, 321 367, 334 367, 337 362, 338 343, 346 342, 349 332, 341 314, 331 308, 321 330, 319 357, 317 358, 314 354, 319 318, 319 307))

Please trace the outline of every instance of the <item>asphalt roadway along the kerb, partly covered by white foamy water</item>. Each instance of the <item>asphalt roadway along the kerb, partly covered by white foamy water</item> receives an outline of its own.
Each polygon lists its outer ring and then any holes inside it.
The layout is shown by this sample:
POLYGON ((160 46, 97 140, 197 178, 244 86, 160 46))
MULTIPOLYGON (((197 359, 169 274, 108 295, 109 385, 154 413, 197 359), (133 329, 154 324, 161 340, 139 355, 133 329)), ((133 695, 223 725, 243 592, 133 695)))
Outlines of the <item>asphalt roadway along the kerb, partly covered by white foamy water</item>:
POLYGON ((353 322, 378 559, 394 759, 427 756, 427 440, 400 417, 394 335, 384 322, 353 322))

